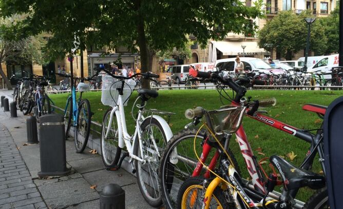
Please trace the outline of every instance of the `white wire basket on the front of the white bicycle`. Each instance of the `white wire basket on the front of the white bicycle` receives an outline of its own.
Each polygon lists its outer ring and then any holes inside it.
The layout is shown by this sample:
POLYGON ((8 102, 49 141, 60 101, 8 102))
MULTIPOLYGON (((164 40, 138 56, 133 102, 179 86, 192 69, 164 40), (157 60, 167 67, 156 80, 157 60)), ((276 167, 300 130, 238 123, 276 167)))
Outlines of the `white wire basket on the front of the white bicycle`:
MULTIPOLYGON (((102 92, 101 92, 101 102, 103 105, 115 107, 119 105, 119 91, 117 88, 121 88, 122 82, 113 78, 110 75, 102 76, 102 92)), ((124 89, 123 89, 123 102, 124 106, 127 106, 128 98, 130 97, 132 91, 134 91, 136 82, 132 79, 125 80, 124 89)))

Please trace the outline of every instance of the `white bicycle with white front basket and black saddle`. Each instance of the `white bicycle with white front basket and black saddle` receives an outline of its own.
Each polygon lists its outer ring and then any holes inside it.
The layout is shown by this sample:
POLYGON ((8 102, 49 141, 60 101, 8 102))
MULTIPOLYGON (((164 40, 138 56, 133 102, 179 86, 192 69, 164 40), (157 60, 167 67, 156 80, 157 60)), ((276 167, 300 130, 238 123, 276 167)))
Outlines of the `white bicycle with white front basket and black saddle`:
POLYGON ((158 163, 163 149, 172 138, 173 133, 163 117, 157 114, 170 115, 174 113, 145 109, 149 98, 156 98, 158 92, 148 89, 138 89, 139 97, 132 106, 131 115, 136 120, 136 129, 129 135, 126 129, 124 106, 136 85, 132 77, 159 77, 152 73, 138 73, 131 77, 113 75, 107 70, 102 77, 101 101, 111 108, 104 114, 101 133, 101 152, 104 164, 109 170, 118 170, 125 157, 129 157, 132 173, 137 171, 138 185, 144 199, 154 207, 162 204, 158 183, 158 163), (140 104, 137 104, 138 100, 140 104), (134 116, 134 108, 138 114, 134 116), (143 116, 145 115, 145 117, 143 116), (122 149, 127 152, 121 156, 122 149), (135 162, 135 163, 134 163, 135 162), (136 168, 134 167, 134 164, 136 168))

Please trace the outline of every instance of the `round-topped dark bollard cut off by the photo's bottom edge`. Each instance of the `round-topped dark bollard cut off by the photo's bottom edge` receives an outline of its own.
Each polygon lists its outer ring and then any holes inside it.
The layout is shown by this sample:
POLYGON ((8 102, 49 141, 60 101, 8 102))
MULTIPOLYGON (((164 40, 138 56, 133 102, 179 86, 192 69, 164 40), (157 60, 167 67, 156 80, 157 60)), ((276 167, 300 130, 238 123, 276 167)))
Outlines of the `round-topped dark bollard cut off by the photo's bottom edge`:
POLYGON ((100 209, 125 209, 125 191, 118 184, 104 186, 100 193, 100 209))

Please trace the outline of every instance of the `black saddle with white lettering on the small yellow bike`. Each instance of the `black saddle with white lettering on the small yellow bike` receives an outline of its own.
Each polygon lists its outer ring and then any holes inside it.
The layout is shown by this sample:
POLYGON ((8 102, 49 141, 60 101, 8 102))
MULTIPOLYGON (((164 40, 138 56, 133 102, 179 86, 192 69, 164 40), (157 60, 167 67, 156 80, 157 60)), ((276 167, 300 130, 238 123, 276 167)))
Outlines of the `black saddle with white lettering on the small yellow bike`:
POLYGON ((297 168, 277 155, 271 156, 270 161, 279 171, 286 191, 299 189, 305 186, 317 190, 324 187, 326 184, 325 177, 311 171, 297 168))

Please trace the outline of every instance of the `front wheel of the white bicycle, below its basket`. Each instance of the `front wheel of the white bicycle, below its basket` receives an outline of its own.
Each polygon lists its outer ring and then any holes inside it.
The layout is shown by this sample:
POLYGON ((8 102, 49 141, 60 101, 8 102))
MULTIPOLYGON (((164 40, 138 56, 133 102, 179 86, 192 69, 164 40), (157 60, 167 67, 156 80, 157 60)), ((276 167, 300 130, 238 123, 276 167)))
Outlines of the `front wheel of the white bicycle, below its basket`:
POLYGON ((104 114, 101 131, 101 157, 106 166, 116 165, 119 161, 122 149, 118 146, 118 124, 116 113, 113 114, 111 126, 108 127, 112 108, 104 114), (106 137, 107 130, 108 135, 106 137))

